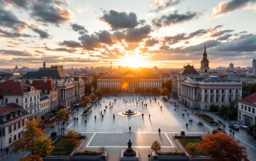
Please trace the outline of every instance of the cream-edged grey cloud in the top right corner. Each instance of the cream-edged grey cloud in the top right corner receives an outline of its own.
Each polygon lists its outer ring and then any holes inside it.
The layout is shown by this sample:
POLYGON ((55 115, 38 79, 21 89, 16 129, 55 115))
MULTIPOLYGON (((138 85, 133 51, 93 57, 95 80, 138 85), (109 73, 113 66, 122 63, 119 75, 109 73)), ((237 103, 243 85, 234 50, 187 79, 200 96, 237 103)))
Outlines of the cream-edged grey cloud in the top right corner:
POLYGON ((230 13, 233 10, 243 8, 248 5, 248 3, 255 3, 256 0, 231 0, 219 3, 218 6, 213 8, 213 16, 222 15, 224 13, 230 13))

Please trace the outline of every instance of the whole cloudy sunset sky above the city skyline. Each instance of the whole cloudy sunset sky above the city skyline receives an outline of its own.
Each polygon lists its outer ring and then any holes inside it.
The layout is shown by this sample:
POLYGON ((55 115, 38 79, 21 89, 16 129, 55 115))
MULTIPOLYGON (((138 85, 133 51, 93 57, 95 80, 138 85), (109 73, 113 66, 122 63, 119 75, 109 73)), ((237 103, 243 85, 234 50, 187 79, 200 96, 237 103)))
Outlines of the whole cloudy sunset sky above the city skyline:
POLYGON ((256 0, 0 0, 0 68, 251 66, 255 30, 256 0))

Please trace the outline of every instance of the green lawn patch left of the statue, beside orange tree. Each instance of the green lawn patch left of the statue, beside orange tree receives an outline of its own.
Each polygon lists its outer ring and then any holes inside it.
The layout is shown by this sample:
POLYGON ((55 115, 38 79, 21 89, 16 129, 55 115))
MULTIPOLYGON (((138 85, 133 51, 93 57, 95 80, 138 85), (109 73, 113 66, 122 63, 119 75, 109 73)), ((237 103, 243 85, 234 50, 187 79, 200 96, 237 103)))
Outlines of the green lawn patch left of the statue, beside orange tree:
MULTIPOLYGON (((79 139, 79 141, 80 141, 81 139, 79 139)), ((63 141, 65 141, 65 138, 60 138, 60 139, 58 139, 54 144, 53 144, 53 146, 54 146, 54 149, 53 149, 53 151, 51 152, 51 155, 70 155, 70 153, 72 152, 72 151, 68 151, 68 148, 64 148, 63 146, 62 146, 62 142, 63 141)), ((74 147, 75 148, 75 147, 74 147)), ((73 148, 73 149, 74 149, 73 148)))

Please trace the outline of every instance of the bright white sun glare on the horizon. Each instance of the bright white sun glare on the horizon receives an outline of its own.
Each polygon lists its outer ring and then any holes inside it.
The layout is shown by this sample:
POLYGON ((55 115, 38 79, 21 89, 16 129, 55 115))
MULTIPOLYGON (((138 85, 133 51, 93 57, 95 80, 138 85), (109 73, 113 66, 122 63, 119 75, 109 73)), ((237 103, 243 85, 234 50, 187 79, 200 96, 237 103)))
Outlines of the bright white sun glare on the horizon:
POLYGON ((125 66, 129 67, 148 67, 150 66, 150 62, 145 60, 143 57, 136 55, 136 56, 127 56, 124 58, 124 64, 125 66))

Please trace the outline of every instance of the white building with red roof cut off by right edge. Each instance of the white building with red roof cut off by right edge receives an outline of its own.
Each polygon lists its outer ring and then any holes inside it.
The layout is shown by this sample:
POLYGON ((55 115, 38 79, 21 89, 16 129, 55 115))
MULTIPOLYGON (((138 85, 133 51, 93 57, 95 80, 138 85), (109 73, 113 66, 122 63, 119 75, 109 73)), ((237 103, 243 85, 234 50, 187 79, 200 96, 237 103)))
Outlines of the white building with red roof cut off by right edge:
POLYGON ((256 123, 256 94, 250 94, 238 101, 238 120, 245 125, 255 125, 256 123))

